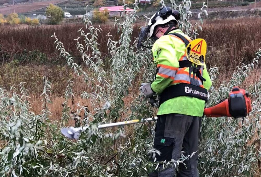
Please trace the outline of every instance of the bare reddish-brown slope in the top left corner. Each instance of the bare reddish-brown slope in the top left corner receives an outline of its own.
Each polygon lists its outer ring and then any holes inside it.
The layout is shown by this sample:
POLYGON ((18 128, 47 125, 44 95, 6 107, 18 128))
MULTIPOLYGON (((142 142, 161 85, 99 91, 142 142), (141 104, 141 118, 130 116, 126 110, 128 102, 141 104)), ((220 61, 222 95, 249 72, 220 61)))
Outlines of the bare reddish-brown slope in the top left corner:
POLYGON ((64 2, 65 0, 50 0, 50 1, 43 1, 43 2, 32 2, 32 3, 21 3, 21 4, 15 4, 9 5, 6 7, 1 7, 0 8, 0 14, 10 14, 14 12, 15 13, 24 13, 32 10, 37 10, 40 8, 44 8, 48 6, 49 4, 56 4, 56 3, 61 3, 64 2))

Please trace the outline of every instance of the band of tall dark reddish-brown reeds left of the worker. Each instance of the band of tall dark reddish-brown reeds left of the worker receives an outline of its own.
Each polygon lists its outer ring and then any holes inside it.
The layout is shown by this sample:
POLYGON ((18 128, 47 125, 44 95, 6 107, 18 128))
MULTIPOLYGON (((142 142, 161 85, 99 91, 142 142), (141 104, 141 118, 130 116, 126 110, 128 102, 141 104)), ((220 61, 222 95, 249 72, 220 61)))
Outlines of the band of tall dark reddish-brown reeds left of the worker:
MULTIPOLYGON (((98 26, 98 25, 96 25, 98 26)), ((104 56, 107 54, 106 34, 113 34, 113 40, 118 40, 120 34, 117 29, 109 24, 100 25, 103 31, 101 32, 98 42, 100 43, 101 52, 104 56)), ((24 49, 28 51, 40 50, 47 54, 50 58, 57 57, 57 52, 54 47, 54 41, 51 36, 56 32, 57 37, 64 44, 66 50, 73 55, 78 55, 75 38, 79 36, 78 30, 85 29, 84 24, 63 24, 63 25, 42 25, 42 26, 0 26, 0 45, 1 52, 8 52, 12 58, 14 54, 22 52, 24 49)), ((133 32, 134 37, 138 36, 139 25, 136 25, 133 32)), ((80 40, 82 42, 82 40, 80 40)), ((1 55, 1 54, 0 54, 1 55)))

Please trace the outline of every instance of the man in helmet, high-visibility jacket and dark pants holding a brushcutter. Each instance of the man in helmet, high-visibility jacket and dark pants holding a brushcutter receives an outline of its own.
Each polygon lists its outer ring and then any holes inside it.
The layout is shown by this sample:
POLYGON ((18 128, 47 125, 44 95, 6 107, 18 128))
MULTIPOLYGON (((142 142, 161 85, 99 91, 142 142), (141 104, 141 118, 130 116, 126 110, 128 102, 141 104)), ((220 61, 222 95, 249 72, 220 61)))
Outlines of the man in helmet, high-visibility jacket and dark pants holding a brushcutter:
POLYGON ((157 74, 152 83, 142 83, 140 91, 147 98, 160 97, 153 147, 161 153, 156 154, 156 162, 177 161, 181 151, 184 156, 196 153, 178 169, 161 165, 150 177, 199 176, 199 128, 211 80, 205 63, 199 66, 187 59, 186 46, 191 39, 177 28, 179 19, 178 11, 163 7, 151 17, 148 27, 142 28, 138 43, 145 35, 156 40, 152 54, 157 74))

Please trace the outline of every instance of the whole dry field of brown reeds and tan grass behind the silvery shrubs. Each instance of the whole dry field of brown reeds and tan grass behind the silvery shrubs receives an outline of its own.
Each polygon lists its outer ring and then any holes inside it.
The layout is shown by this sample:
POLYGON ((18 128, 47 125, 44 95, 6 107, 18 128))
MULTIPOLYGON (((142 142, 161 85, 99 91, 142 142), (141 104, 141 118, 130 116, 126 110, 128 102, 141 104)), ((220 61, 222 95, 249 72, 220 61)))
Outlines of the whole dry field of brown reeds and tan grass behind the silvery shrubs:
MULTIPOLYGON (((133 38, 138 36, 139 27, 134 27, 133 38)), ((11 84, 18 85, 21 81, 27 82, 27 88, 31 93, 33 111, 39 114, 41 111, 40 93, 43 89, 42 77, 47 76, 51 81, 53 102, 51 112, 53 120, 60 120, 62 103, 64 102, 64 91, 67 80, 74 78, 74 101, 69 101, 69 106, 76 109, 76 103, 88 105, 90 101, 80 98, 82 91, 91 91, 83 79, 76 77, 73 71, 66 66, 63 58, 55 51, 54 40, 51 37, 56 32, 57 37, 64 44, 67 51, 75 56, 75 61, 81 64, 81 58, 73 40, 79 36, 79 28, 83 24, 66 24, 57 26, 0 26, 0 84, 10 88, 11 84), (26 49, 26 52, 25 52, 26 49), (39 51, 37 54, 28 54, 29 51, 39 51)), ((107 57, 107 37, 110 32, 114 40, 119 34, 112 25, 102 24, 103 31, 99 35, 98 42, 105 61, 107 57)), ((207 66, 220 67, 220 78, 222 81, 232 74, 240 63, 249 63, 255 57, 255 51, 261 46, 261 19, 217 19, 207 20, 203 25, 203 31, 199 38, 204 38, 208 45, 207 66)), ((82 39, 81 39, 82 40, 82 39)), ((108 66, 108 62, 105 62, 108 66)), ((106 67, 105 66, 105 67, 106 67)), ((88 70, 88 68, 84 68, 88 70)), ((254 83, 260 77, 260 71, 256 71, 243 85, 254 83)), ((128 97, 124 98, 125 105, 137 96, 140 79, 131 88, 128 97)), ((83 113, 82 113, 83 114, 83 113)), ((73 122, 71 121, 70 124, 73 122)))

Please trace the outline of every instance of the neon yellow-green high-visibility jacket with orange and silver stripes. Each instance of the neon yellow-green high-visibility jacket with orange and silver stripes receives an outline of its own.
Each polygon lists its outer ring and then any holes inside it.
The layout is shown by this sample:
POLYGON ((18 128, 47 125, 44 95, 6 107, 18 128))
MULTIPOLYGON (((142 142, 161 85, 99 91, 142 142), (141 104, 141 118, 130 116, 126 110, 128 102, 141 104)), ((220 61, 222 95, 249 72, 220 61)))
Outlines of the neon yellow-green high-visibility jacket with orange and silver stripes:
MULTIPOLYGON (((171 85, 180 83, 191 84, 189 68, 179 68, 179 60, 187 60, 185 54, 186 45, 179 37, 171 35, 170 33, 179 33, 191 41, 180 29, 175 29, 169 32, 168 35, 160 37, 153 44, 153 61, 157 64, 158 73, 156 79, 151 84, 151 88, 158 94, 171 85)), ((202 81, 197 78, 200 87, 209 90, 212 82, 205 64, 204 69, 201 68, 200 73, 203 78, 206 79, 206 81, 202 83, 202 81)), ((193 78, 192 74, 191 77, 193 78)), ((189 96, 180 96, 163 102, 159 107, 157 115, 177 113, 201 117, 203 116, 204 107, 204 100, 189 96)))

